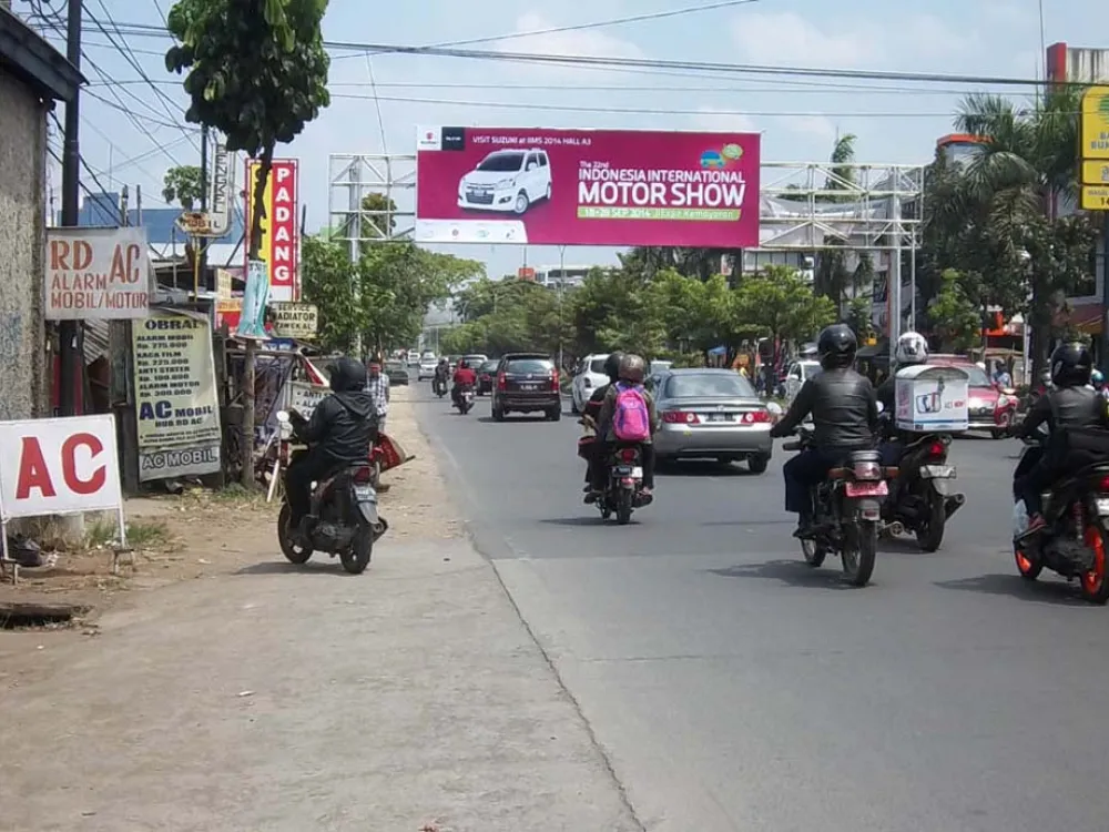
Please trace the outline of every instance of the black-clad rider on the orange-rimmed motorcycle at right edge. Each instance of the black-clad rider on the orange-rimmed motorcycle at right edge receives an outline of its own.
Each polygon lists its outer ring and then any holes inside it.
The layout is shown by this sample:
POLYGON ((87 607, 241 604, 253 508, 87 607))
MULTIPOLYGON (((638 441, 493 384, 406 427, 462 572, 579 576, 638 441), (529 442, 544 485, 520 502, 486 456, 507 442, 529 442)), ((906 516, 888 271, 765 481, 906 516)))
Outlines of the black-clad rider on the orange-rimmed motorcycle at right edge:
POLYGON ((1056 347, 1051 353, 1050 385, 1016 432, 1017 436, 1028 437, 1041 425, 1049 430, 1046 446, 1029 449, 1013 473, 1013 496, 1025 501, 1028 513, 1028 527, 1020 537, 1045 528, 1040 494, 1064 471, 1085 468, 1106 457, 1109 440, 1081 442, 1077 436, 1080 428, 1109 426, 1106 399, 1090 386, 1092 371, 1093 356, 1085 344, 1056 347))

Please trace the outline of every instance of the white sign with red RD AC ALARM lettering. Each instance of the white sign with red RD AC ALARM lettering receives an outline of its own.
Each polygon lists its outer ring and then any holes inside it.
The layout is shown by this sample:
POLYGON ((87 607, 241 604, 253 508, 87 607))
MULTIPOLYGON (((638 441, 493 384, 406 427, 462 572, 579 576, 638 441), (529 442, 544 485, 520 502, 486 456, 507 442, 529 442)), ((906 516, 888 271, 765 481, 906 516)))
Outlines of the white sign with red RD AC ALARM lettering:
POLYGON ((146 317, 150 294, 144 229, 47 230, 43 310, 48 321, 146 317))

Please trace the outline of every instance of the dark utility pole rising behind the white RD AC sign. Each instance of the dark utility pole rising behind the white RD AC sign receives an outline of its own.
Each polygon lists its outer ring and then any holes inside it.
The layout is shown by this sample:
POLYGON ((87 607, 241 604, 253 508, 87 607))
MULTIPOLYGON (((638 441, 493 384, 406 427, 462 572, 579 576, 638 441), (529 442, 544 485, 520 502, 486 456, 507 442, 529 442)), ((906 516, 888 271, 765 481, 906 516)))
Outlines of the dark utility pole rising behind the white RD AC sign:
MULTIPOLYGON (((69 0, 67 20, 65 57, 78 70, 81 69, 81 0, 69 0)), ((62 149, 62 225, 72 227, 80 217, 81 148, 78 134, 81 130, 80 90, 74 90, 73 100, 65 104, 65 136, 62 149)), ((61 353, 61 385, 59 400, 62 416, 77 416, 74 388, 78 378, 77 321, 62 321, 58 325, 58 346, 61 353)))

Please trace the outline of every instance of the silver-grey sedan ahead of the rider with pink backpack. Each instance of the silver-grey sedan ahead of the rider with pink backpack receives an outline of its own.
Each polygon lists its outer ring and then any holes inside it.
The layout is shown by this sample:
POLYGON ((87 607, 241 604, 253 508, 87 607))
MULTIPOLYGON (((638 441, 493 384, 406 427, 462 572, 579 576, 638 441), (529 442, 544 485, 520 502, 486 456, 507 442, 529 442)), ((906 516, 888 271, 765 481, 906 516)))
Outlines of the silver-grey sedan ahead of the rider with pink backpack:
POLYGON ((774 413, 746 378, 733 369, 706 367, 671 369, 654 378, 662 423, 654 436, 659 461, 745 459, 752 474, 766 470, 774 450, 774 413))

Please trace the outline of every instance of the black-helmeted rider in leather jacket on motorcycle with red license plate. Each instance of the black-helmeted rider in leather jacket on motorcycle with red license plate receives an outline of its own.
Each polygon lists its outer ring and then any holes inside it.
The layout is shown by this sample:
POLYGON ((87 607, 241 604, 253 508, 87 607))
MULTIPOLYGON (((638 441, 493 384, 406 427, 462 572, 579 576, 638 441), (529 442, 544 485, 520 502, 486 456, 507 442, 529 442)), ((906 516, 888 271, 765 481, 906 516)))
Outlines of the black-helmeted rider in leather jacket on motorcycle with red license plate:
POLYGON ((797 515, 795 537, 815 532, 812 487, 852 450, 874 447, 877 400, 869 379, 852 367, 857 349, 849 326, 825 327, 816 342, 822 372, 805 382, 788 413, 771 428, 773 437, 788 436, 805 416, 813 416, 813 447, 790 459, 782 471, 785 510, 797 515))

